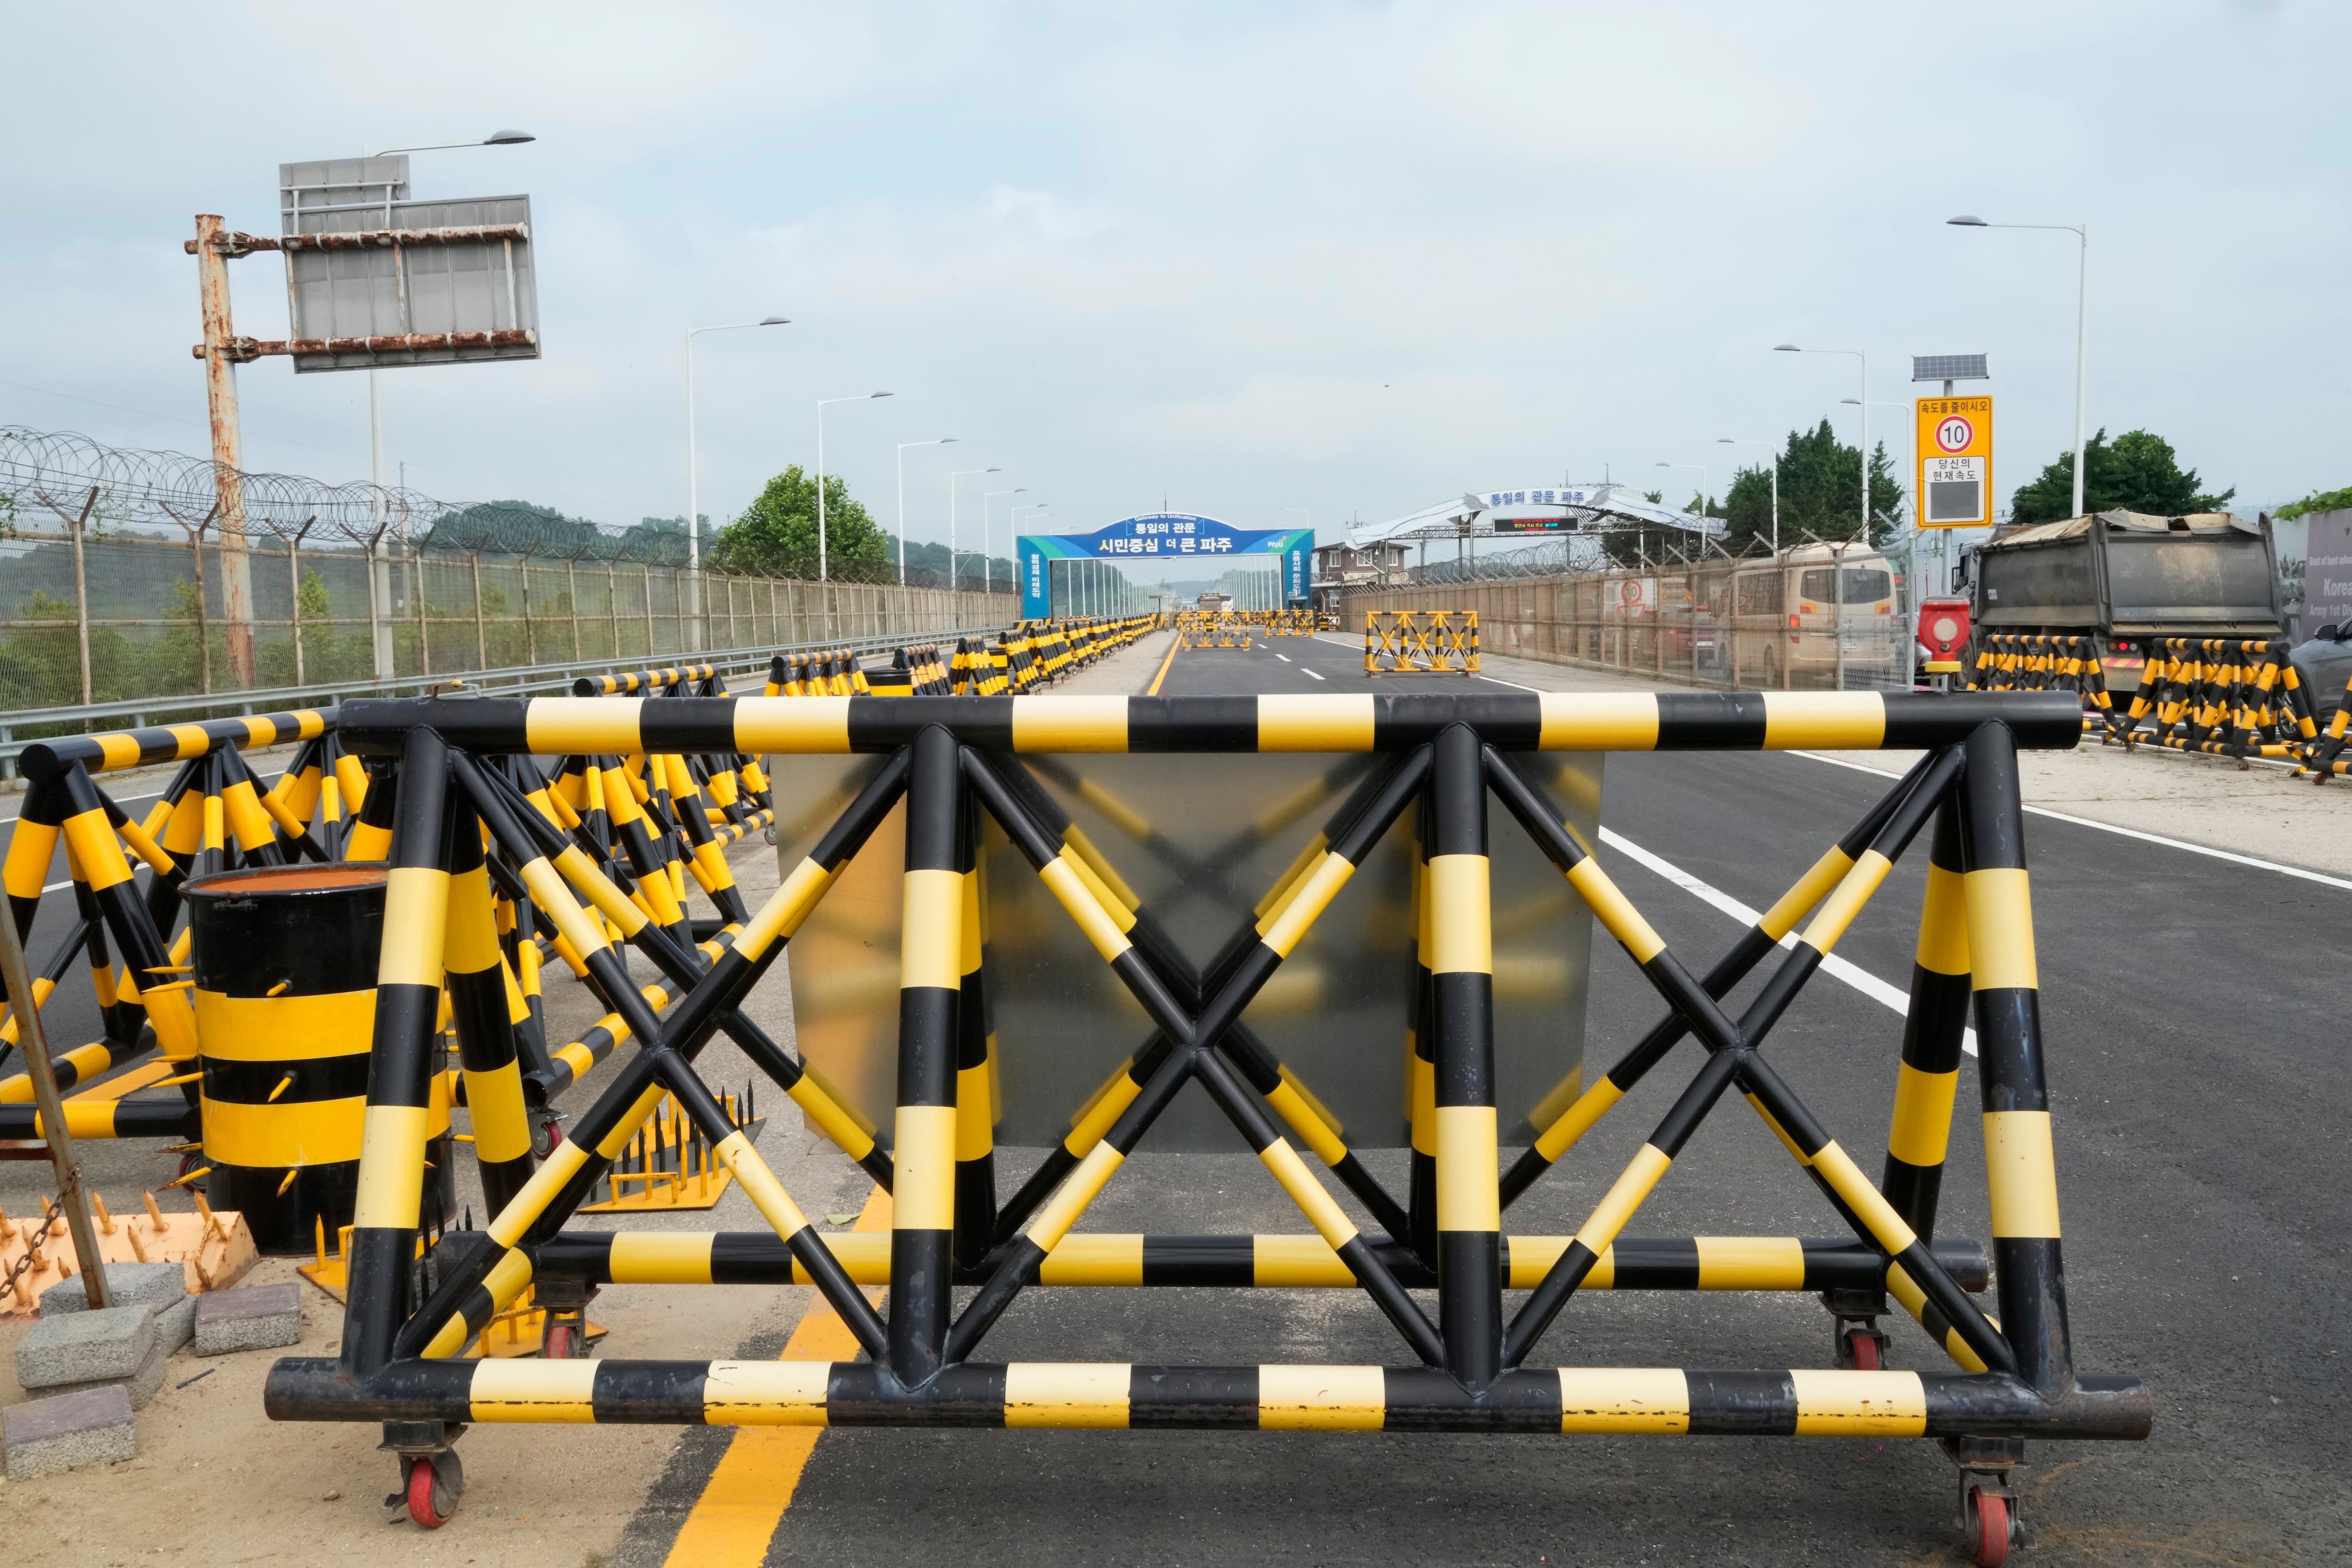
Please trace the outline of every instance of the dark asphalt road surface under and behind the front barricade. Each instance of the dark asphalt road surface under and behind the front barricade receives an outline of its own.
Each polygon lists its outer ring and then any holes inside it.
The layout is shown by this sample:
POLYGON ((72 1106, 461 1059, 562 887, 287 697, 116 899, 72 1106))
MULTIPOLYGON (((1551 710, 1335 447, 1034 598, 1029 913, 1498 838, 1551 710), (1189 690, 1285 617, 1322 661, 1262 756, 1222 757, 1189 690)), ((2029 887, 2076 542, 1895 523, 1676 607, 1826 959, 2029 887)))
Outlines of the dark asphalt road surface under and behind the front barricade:
MULTIPOLYGON (((1562 670, 1557 684, 1581 679, 1562 670)), ((1357 649, 1282 639, 1178 654, 1162 693, 1364 682, 1357 649)), ((1399 684, 1465 677, 1383 677, 1399 684)), ((1886 783, 1802 755, 1621 755, 1609 759, 1604 823, 1618 842, 1764 907, 1886 783)), ((2023 1561, 2352 1561, 2352 1105, 2338 1063, 2352 893, 2049 818, 2030 818, 2027 851, 2074 1354, 2086 1371, 2143 1375, 2157 1429, 2145 1443, 2030 1446, 2020 1479, 2034 1549, 2023 1561)), ((1896 987, 1910 973, 1922 858, 1924 844, 1839 947, 1896 987)), ((1604 846, 1602 860, 1693 964, 1738 936, 1733 917, 1621 846, 1604 846)), ((42 919, 47 931, 59 914, 42 919)), ((1621 952, 1597 952, 1592 971, 1588 1077, 1658 1016, 1621 952)), ((64 987, 78 990, 80 978, 64 987)), ((1863 1157, 1884 1145, 1898 1039, 1884 1001, 1818 976, 1769 1053, 1863 1157)), ((1505 1227, 1571 1232, 1693 1063, 1670 1058, 1505 1227)), ((1964 1084, 1940 1222, 1955 1237, 1987 1232, 1969 1095, 1964 1084)), ((1009 1190, 1025 1157, 1000 1161, 1009 1190)), ((1371 1164, 1399 1173, 1392 1154, 1371 1164)), ((1863 1164, 1875 1168, 1875 1154, 1863 1164)), ((1087 1229, 1303 1225, 1247 1157, 1145 1152, 1087 1229)), ((1837 1220, 1729 1100, 1637 1229, 1835 1234, 1837 1220)), ((1907 1319, 1889 1328, 1893 1366, 1943 1366, 1907 1319)), ((1395 1361, 1399 1347, 1352 1293, 1073 1288, 1025 1295, 988 1352, 1364 1363, 1395 1361)), ((776 1345, 739 1354, 771 1356, 776 1345)), ((1541 1356, 1828 1366, 1830 1319, 1811 1298, 1595 1293, 1571 1305, 1541 1356)), ((727 1441, 677 1439, 616 1561, 666 1559, 727 1441)), ((809 1455, 767 1561, 1955 1563, 1952 1502, 1952 1467, 1924 1441, 835 1429, 809 1455)))

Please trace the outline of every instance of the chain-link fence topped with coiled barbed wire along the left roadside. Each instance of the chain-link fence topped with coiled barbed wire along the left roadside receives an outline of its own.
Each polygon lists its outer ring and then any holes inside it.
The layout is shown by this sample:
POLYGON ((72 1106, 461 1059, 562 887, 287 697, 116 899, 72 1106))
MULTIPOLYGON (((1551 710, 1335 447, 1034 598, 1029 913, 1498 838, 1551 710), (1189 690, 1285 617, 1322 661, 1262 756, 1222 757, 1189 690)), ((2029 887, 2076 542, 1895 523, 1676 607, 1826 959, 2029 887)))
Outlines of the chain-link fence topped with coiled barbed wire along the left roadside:
POLYGON ((823 583, 691 571, 675 527, 459 508, 0 428, 9 712, 1016 618, 1009 583, 908 578, 870 564, 823 583))

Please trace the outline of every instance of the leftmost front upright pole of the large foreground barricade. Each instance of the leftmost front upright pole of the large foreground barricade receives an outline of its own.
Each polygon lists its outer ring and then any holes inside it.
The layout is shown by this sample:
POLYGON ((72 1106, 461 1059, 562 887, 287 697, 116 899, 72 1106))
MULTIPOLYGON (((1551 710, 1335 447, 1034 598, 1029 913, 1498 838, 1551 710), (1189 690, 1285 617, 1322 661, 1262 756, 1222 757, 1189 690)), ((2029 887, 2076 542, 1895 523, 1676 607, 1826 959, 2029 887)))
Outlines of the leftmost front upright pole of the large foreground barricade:
POLYGON ((369 1044, 365 1135, 350 1215, 343 1371, 369 1378, 393 1359, 426 1187, 435 1018, 445 978, 449 748, 412 729, 383 877, 383 950, 369 1044))

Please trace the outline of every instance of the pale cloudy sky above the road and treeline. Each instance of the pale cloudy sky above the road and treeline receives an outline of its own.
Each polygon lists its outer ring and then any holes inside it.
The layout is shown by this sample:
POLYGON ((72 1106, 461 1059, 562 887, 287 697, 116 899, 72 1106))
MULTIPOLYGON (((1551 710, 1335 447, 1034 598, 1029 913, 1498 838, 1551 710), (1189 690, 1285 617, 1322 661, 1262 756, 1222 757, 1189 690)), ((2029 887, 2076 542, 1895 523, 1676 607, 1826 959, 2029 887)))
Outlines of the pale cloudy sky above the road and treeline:
MULTIPOLYGON (((381 376, 445 501, 600 522, 826 465, 962 548, 1171 508, 1249 529, 1585 482, 1722 494, 1790 428, 1907 456, 1910 355, 1985 353, 1994 489, 2150 428, 2241 510, 2352 482, 2352 7, 31 7, 0 160, 0 423, 205 451, 193 214, 282 160, 529 193, 543 355, 381 376), (1689 468, 1663 470, 1658 463, 1689 468)), ((238 331, 285 273, 233 263, 238 331)), ((1917 388, 1940 390, 1940 388, 1917 388)), ((240 371, 247 468, 362 480, 367 378, 240 371)), ((400 470, 397 465, 405 465, 400 470)))

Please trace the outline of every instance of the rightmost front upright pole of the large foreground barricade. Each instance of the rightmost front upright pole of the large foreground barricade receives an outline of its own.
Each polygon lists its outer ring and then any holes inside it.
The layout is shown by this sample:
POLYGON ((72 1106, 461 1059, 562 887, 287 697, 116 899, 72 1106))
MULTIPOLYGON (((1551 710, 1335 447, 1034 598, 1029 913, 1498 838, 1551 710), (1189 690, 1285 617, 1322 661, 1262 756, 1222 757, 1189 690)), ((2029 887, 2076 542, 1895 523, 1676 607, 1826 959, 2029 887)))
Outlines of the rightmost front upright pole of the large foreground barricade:
POLYGON ((1959 851, 2002 1338, 2018 1378, 2051 1396, 2072 1392, 2074 1352, 2058 1251, 2058 1166, 2042 1072, 2042 980, 2018 750, 2004 724, 1985 724, 1966 752, 1959 851))

